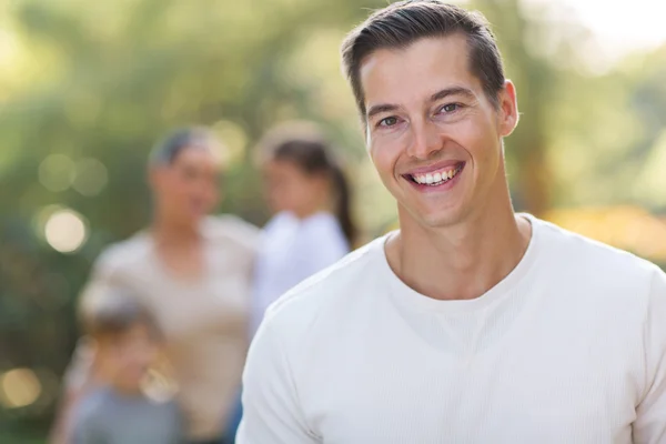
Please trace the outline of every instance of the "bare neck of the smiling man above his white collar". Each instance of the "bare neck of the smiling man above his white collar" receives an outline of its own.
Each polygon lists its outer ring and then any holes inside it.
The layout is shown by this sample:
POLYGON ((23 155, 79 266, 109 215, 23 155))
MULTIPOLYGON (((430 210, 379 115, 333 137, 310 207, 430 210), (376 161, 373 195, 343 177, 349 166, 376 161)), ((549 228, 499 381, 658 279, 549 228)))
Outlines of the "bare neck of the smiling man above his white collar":
POLYGON ((389 263, 428 297, 480 297, 518 264, 532 235, 531 223, 516 216, 511 204, 492 213, 434 229, 402 218, 401 233, 386 245, 389 263))

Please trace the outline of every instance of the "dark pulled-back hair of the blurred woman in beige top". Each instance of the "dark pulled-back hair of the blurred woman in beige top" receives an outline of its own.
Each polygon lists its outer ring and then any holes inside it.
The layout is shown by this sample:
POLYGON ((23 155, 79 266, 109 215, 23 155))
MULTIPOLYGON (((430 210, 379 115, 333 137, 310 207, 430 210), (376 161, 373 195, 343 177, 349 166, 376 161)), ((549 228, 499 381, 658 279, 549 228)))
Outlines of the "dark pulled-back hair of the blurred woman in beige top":
POLYGON ((213 133, 204 127, 181 128, 167 134, 153 147, 149 163, 151 167, 170 165, 185 149, 210 150, 219 144, 213 133))

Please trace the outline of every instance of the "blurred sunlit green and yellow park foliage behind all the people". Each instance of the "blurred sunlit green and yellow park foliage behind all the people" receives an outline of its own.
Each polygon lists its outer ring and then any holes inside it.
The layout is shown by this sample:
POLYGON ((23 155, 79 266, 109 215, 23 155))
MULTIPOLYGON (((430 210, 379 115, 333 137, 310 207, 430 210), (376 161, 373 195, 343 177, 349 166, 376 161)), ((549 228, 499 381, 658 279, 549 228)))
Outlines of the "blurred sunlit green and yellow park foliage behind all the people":
MULTIPOLYGON (((395 224, 367 161, 339 46, 385 0, 0 2, 0 443, 42 443, 100 250, 145 225, 154 140, 211 125, 221 211, 261 224, 262 131, 321 122, 366 239, 395 224)), ((666 3, 478 0, 523 113, 514 203, 666 265, 666 3)))

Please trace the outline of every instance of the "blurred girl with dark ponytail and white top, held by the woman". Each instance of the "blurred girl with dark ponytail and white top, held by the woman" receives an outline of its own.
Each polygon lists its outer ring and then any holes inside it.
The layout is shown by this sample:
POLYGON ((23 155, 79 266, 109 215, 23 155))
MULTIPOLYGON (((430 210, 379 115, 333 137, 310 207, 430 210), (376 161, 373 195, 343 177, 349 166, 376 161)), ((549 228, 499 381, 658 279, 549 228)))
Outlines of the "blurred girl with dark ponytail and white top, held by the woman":
MULTIPOLYGON (((274 216, 265 225, 258 249, 250 335, 271 303, 342 259, 356 240, 350 184, 316 127, 306 122, 282 124, 264 137, 259 150, 274 216)), ((239 400, 230 440, 241 417, 239 400)))

